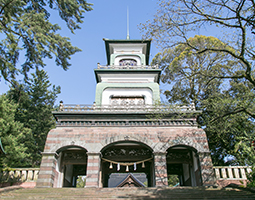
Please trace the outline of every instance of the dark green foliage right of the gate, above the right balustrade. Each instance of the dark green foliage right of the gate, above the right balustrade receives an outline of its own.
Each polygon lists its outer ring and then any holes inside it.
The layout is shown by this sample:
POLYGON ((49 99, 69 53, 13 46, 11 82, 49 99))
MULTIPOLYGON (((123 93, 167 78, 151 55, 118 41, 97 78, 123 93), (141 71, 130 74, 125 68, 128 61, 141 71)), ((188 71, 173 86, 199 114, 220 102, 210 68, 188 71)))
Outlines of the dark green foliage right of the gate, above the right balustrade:
MULTIPOLYGON (((223 165, 224 157, 229 155, 235 159, 225 163, 227 165, 252 164, 252 152, 236 150, 240 142, 255 134, 254 119, 242 112, 245 109, 254 112, 255 109, 254 91, 251 84, 245 84, 247 82, 231 81, 228 89, 204 101, 206 109, 200 123, 206 125, 205 131, 216 165, 223 165)), ((251 143, 244 144, 250 146, 251 143)))

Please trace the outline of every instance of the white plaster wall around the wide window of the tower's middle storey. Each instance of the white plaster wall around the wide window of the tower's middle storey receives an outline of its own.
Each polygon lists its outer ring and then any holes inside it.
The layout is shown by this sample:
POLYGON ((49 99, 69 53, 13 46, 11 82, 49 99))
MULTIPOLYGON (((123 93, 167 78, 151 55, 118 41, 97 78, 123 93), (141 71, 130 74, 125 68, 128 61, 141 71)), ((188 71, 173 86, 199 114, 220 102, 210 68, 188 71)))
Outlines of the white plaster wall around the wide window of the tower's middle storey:
POLYGON ((110 97, 114 96, 145 96, 145 104, 152 104, 152 91, 149 88, 106 88, 102 93, 102 105, 110 104, 110 97))

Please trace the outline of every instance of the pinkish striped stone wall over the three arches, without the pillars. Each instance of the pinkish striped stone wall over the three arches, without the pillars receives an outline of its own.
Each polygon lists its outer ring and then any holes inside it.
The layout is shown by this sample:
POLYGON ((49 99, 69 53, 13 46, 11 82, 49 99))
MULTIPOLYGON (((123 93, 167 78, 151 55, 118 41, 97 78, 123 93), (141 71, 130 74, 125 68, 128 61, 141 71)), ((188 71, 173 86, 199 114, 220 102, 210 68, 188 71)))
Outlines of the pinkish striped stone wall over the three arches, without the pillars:
POLYGON ((175 145, 187 145, 198 152, 209 152, 205 132, 195 127, 57 128, 49 132, 44 152, 55 153, 61 147, 75 145, 95 153, 106 145, 119 141, 141 142, 154 152, 165 152, 175 145))

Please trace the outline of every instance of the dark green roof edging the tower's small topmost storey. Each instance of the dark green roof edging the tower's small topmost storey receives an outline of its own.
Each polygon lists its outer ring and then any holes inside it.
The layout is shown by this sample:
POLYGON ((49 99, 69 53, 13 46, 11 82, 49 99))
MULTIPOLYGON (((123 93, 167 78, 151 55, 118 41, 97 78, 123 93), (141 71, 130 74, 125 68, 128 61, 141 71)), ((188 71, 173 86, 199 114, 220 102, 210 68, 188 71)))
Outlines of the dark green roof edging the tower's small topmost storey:
POLYGON ((150 46, 151 40, 110 40, 110 39, 103 39, 105 41, 105 49, 106 49, 106 57, 107 57, 107 65, 110 65, 110 44, 146 44, 146 65, 149 65, 149 58, 150 58, 150 46))

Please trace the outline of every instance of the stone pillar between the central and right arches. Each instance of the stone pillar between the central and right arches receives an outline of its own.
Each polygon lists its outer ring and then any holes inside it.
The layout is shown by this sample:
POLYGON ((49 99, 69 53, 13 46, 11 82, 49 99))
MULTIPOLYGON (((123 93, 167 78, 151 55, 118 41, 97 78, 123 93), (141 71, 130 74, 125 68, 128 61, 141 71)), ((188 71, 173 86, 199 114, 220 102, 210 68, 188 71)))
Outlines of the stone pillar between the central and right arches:
POLYGON ((168 186, 166 152, 154 153, 155 182, 157 186, 168 186))

